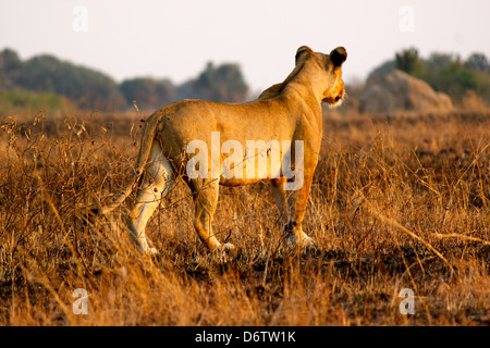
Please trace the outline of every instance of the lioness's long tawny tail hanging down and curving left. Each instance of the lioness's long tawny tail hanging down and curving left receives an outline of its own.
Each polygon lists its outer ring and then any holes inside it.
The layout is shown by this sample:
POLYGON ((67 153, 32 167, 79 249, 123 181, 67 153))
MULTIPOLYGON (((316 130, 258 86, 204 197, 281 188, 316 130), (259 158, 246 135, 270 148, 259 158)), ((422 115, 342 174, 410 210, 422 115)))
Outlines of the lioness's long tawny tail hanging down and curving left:
MULTIPOLYGON (((112 200, 103 206, 98 208, 89 209, 89 212, 91 214, 98 215, 98 214, 107 214, 118 208, 122 202, 126 200, 126 198, 131 195, 133 191, 134 183, 138 182, 140 176, 143 175, 143 171, 145 169, 146 162, 148 161, 149 153, 151 150, 151 146, 154 144, 155 136, 157 134, 157 127, 158 124, 161 121, 161 117, 163 116, 163 112, 161 110, 155 112, 151 114, 148 120, 145 122, 145 127, 143 128, 143 137, 142 137, 142 145, 139 147, 139 154, 138 159, 136 161, 135 171, 133 174, 133 177, 131 178, 130 183, 126 185, 126 187, 120 191, 119 195, 117 195, 112 200)), ((87 211, 85 207, 84 212, 87 211)), ((78 211, 77 213, 83 213, 82 211, 78 211)))

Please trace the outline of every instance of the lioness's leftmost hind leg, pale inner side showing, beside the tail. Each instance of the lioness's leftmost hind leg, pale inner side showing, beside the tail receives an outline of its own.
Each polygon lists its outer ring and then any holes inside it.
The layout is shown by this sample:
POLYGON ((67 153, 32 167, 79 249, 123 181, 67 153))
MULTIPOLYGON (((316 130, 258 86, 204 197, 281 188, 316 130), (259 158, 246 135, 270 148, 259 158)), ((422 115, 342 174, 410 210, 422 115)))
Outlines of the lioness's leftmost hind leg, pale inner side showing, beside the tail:
POLYGON ((160 146, 154 142, 127 223, 131 237, 140 251, 157 252, 157 249, 149 246, 145 228, 160 200, 169 192, 172 182, 172 165, 163 156, 160 146))

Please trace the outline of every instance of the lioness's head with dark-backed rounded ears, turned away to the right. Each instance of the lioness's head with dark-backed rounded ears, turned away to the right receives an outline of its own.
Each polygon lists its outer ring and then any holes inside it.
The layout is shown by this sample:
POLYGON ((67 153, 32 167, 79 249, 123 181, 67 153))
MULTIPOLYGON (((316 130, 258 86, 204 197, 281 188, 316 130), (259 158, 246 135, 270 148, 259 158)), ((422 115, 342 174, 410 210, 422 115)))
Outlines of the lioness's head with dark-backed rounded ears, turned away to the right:
POLYGON ((346 59, 347 51, 343 47, 335 48, 330 54, 323 54, 314 52, 307 46, 302 46, 296 51, 295 71, 315 69, 316 74, 320 71, 322 73, 322 78, 320 79, 322 84, 321 100, 330 105, 339 105, 345 96, 344 83, 342 82, 342 64, 346 59))

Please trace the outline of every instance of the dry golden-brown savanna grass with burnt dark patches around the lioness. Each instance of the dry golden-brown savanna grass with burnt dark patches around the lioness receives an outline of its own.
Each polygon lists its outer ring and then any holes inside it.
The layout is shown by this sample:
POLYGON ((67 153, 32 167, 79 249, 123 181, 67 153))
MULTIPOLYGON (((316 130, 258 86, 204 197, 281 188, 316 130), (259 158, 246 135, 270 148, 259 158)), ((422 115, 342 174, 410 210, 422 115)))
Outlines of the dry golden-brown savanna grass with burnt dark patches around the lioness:
POLYGON ((76 217, 125 185, 145 116, 2 120, 0 325, 490 324, 488 113, 326 113, 304 224, 317 249, 283 248, 261 183, 221 189, 215 231, 238 249, 226 259, 197 239, 182 179, 148 224, 155 257, 124 229, 134 194, 76 217))

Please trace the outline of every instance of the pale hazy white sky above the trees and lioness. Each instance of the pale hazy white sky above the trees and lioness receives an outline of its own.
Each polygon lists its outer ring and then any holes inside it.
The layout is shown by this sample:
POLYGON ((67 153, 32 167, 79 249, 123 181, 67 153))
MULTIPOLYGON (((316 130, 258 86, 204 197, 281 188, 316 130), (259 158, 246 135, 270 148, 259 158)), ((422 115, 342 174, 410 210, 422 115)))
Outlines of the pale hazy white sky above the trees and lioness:
POLYGON ((0 50, 49 53, 117 82, 240 63, 253 91, 282 82, 298 47, 347 50, 346 83, 396 51, 490 57, 488 0, 0 0, 0 50))

